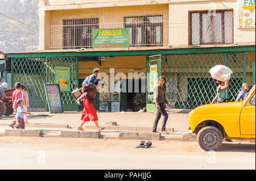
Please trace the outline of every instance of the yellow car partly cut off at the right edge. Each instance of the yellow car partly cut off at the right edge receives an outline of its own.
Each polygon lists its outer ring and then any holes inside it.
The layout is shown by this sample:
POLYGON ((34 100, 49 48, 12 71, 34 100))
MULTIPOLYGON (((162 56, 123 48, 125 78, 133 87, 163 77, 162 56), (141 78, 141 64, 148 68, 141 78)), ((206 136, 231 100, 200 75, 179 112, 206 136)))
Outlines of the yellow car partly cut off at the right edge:
POLYGON ((223 138, 255 140, 255 85, 242 102, 206 104, 189 113, 191 131, 206 151, 218 150, 223 138))

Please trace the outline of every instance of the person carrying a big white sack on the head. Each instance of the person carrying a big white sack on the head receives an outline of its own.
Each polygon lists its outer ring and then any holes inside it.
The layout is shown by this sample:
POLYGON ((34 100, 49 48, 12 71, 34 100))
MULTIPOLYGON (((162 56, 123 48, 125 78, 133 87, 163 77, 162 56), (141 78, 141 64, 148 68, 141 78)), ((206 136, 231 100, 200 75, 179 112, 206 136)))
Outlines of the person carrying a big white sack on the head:
POLYGON ((216 79, 218 83, 216 90, 217 94, 212 100, 211 104, 216 102, 216 100, 217 103, 228 102, 229 99, 226 99, 227 95, 225 89, 227 89, 229 86, 230 75, 233 73, 233 71, 224 65, 216 65, 210 69, 209 72, 212 75, 212 78, 216 79))

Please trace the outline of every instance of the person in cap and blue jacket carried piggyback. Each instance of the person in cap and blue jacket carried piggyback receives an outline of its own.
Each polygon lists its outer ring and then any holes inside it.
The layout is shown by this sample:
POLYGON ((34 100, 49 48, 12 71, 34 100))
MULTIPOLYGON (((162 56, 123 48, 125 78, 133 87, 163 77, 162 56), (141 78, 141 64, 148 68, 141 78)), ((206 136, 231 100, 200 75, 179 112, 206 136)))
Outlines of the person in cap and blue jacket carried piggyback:
POLYGON ((85 89, 85 86, 93 86, 96 87, 96 85, 98 83, 100 83, 98 77, 98 74, 100 74, 100 69, 93 69, 93 74, 87 76, 84 79, 84 82, 82 82, 82 92, 84 94, 82 94, 79 98, 77 98, 76 102, 77 104, 79 104, 79 106, 82 106, 82 99, 85 98, 86 92, 88 92, 88 90, 85 89))

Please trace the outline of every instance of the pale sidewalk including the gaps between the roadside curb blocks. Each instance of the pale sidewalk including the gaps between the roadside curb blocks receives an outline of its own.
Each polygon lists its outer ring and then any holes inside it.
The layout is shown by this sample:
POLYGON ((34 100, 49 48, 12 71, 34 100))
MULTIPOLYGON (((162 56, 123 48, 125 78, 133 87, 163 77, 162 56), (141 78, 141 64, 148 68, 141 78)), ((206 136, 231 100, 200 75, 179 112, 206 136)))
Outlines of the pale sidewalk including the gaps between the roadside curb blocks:
MULTIPOLYGON (((162 135, 161 140, 181 141, 183 134, 188 128, 188 112, 190 110, 169 110, 167 121, 168 135, 162 135)), ((77 131, 80 124, 82 112, 33 112, 35 116, 28 116, 26 129, 42 129, 43 137, 59 137, 61 131, 77 131)), ((97 112, 100 127, 105 127, 101 131, 101 138, 118 139, 119 134, 150 134, 154 123, 155 114, 148 112, 97 112), (118 125, 110 125, 114 121, 118 125)), ((0 119, 0 135, 3 136, 6 129, 11 129, 8 125, 13 119, 12 116, 3 116, 0 119)), ((162 126, 163 117, 158 124, 158 131, 162 126)), ((84 129, 86 132, 96 132, 96 127, 92 121, 86 122, 84 129)))

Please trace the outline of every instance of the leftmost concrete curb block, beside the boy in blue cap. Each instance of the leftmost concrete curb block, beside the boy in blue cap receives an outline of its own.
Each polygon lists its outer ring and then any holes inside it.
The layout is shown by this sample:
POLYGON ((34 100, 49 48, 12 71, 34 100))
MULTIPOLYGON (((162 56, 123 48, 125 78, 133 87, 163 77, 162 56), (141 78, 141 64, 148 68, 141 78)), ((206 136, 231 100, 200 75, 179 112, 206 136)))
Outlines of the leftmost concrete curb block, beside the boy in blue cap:
POLYGON ((3 136, 42 137, 43 129, 5 129, 3 136))

